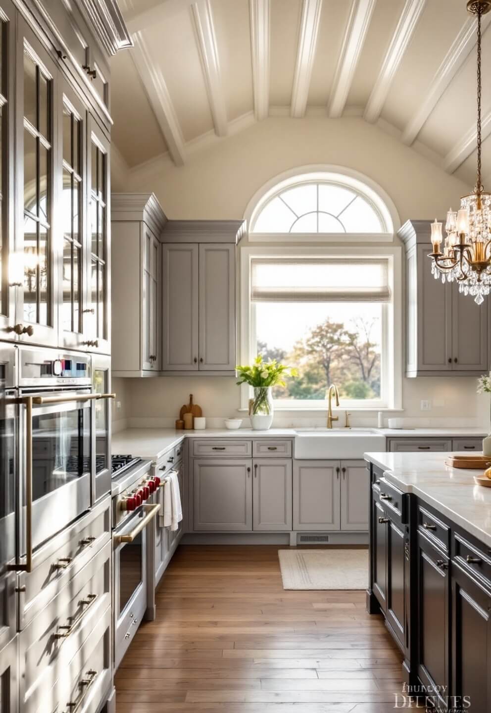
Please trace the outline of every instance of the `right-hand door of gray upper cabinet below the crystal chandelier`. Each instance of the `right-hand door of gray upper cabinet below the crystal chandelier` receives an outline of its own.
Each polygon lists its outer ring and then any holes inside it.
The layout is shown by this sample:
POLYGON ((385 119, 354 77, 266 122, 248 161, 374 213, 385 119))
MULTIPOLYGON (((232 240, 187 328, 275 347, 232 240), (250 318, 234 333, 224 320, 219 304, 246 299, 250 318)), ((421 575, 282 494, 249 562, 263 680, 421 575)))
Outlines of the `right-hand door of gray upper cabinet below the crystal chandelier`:
POLYGON ((478 305, 461 294, 456 284, 452 290, 453 371, 489 371, 487 357, 487 299, 478 305))

